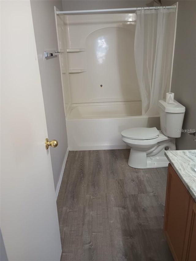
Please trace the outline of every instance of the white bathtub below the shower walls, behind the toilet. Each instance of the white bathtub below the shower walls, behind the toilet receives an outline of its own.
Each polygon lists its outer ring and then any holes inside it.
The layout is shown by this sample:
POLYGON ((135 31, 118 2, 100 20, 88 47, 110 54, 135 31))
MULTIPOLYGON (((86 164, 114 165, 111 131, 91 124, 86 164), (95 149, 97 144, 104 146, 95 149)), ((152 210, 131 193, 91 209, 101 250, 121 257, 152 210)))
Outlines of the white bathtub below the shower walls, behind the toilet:
POLYGON ((141 116, 141 101, 73 104, 66 116, 69 150, 125 149, 121 131, 134 127, 156 127, 160 117, 141 116))

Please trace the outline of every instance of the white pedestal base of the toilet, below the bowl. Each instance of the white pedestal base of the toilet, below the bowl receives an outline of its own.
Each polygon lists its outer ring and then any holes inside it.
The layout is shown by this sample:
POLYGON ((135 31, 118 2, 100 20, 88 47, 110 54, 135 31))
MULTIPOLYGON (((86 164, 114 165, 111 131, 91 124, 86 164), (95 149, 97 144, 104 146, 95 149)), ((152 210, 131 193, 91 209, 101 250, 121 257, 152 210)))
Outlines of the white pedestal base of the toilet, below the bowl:
POLYGON ((168 159, 164 155, 165 150, 161 150, 154 156, 147 156, 145 151, 131 148, 128 165, 136 169, 161 168, 168 166, 168 159))

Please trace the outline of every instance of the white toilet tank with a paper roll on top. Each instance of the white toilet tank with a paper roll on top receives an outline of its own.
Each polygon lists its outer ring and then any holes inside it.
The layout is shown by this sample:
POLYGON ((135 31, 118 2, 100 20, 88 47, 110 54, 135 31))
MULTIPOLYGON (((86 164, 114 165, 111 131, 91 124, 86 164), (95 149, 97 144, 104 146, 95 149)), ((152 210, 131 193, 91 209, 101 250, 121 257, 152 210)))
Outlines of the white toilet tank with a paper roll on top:
POLYGON ((185 107, 173 101, 166 103, 165 100, 159 100, 160 129, 165 136, 179 138, 183 126, 185 107))

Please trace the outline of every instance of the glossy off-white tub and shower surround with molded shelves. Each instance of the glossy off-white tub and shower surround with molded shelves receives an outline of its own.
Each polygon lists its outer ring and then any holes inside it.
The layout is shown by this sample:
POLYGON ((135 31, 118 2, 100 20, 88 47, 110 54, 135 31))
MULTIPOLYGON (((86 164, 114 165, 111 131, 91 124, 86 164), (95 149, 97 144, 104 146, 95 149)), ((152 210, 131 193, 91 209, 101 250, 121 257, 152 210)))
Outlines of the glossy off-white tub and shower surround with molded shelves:
POLYGON ((141 115, 136 14, 59 14, 56 21, 69 149, 122 149, 122 130, 160 129, 159 115, 141 115))

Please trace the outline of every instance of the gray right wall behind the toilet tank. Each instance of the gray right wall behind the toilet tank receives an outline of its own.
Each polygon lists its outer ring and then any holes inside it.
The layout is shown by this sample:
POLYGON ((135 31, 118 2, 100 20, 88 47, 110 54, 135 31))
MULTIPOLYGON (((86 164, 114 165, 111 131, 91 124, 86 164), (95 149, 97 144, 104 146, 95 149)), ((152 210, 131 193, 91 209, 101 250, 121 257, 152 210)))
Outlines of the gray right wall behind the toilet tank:
MULTIPOLYGON (((196 1, 179 1, 171 92, 186 107, 183 129, 196 129, 196 1)), ((182 133, 176 139, 177 149, 196 149, 193 138, 182 133)))

